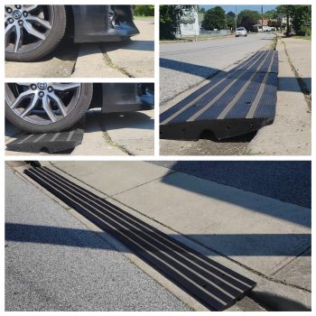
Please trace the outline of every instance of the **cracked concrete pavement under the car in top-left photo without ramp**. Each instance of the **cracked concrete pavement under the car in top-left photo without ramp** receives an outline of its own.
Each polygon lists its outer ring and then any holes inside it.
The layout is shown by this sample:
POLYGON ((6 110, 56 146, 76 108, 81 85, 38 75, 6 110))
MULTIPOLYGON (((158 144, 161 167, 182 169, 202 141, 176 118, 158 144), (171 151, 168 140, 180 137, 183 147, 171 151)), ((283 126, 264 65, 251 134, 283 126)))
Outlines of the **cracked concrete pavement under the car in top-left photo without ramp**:
POLYGON ((74 44, 66 38, 42 60, 5 62, 7 78, 153 78, 152 18, 136 19, 140 34, 130 41, 74 44))

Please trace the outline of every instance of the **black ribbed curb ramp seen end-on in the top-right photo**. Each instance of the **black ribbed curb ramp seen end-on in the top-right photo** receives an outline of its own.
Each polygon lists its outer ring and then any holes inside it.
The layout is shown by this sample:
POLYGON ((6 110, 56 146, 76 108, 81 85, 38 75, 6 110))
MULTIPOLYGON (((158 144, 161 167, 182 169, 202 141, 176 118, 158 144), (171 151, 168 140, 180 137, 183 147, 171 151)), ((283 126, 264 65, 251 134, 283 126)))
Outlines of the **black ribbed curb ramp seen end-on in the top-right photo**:
POLYGON ((160 116, 160 137, 199 139, 204 131, 211 131, 223 139, 272 124, 277 73, 277 51, 256 52, 164 111, 160 116))

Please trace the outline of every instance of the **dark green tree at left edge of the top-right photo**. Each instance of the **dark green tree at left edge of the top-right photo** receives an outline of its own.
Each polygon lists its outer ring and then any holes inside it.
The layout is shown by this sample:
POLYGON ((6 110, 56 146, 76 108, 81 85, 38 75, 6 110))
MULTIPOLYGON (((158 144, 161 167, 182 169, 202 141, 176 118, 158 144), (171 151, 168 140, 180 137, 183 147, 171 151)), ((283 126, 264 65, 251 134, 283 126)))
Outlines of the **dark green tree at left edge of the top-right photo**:
POLYGON ((180 21, 185 10, 193 5, 160 5, 159 26, 160 39, 173 40, 175 34, 180 32, 180 21))

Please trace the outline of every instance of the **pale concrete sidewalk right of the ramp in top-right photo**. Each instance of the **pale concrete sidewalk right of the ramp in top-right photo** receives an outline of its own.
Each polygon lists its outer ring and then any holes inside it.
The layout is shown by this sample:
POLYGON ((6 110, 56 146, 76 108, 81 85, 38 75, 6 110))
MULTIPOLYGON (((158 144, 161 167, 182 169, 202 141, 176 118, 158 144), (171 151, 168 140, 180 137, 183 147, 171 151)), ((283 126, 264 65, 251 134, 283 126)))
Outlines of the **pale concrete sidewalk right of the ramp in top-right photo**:
POLYGON ((279 75, 274 124, 258 131, 248 144, 247 153, 310 155, 311 110, 290 62, 311 88, 311 42, 281 39, 276 50, 279 51, 279 75))

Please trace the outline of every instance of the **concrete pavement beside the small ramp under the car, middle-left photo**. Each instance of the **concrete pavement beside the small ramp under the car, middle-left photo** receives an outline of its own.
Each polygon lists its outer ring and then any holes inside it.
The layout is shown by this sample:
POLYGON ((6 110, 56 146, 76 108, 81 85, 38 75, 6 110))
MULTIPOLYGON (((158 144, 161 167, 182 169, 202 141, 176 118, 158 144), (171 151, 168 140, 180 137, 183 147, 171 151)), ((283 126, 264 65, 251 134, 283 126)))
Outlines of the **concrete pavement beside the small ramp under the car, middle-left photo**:
MULTIPOLYGON (((154 110, 133 113, 101 114, 99 110, 88 111, 82 144, 70 155, 152 155, 154 110)), ((21 131, 10 122, 5 123, 5 144, 12 142, 21 131)), ((5 155, 22 155, 5 151, 5 155)), ((48 153, 41 153, 48 154, 48 153)))

